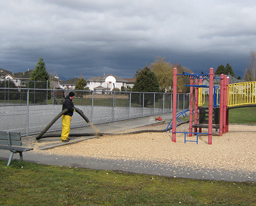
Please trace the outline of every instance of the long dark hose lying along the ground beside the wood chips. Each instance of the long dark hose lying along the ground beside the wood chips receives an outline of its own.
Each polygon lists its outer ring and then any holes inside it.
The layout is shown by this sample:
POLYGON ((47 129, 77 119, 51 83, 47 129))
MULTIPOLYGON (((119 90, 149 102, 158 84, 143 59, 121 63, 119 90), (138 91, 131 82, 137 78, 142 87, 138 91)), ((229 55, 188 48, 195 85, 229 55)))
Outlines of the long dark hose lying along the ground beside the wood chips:
MULTIPOLYGON (((187 121, 184 122, 179 122, 177 124, 177 126, 183 125, 185 123, 188 123, 189 119, 187 121)), ((172 127, 171 127, 172 129, 172 127)), ((103 136, 103 135, 126 135, 126 134, 139 134, 139 133, 144 133, 144 132, 165 132, 166 129, 162 129, 162 130, 139 130, 139 131, 133 131, 133 132, 126 132, 126 133, 103 133, 103 132, 94 132, 94 133, 70 133, 69 136, 103 136)), ((42 138, 56 138, 56 137, 60 137, 62 134, 47 134, 44 136, 40 136, 39 139, 42 138)))

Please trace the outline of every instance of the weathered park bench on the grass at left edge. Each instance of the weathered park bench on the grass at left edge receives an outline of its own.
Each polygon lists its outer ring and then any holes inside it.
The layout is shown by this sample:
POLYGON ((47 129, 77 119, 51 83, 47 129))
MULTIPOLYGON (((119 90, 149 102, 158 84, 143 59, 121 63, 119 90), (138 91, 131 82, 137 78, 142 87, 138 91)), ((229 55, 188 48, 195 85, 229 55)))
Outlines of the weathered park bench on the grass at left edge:
POLYGON ((0 131, 0 149, 10 150, 11 152, 7 166, 10 165, 14 153, 20 153, 20 161, 23 161, 22 152, 33 150, 33 148, 21 146, 22 142, 20 132, 0 131))

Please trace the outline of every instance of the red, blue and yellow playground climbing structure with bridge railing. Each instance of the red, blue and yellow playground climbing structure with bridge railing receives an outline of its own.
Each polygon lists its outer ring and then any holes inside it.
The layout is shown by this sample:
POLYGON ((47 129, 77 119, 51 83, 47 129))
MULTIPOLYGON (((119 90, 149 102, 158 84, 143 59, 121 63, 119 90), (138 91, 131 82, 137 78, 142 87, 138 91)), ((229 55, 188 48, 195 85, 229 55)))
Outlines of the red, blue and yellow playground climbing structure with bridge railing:
POLYGON ((185 134, 186 142, 197 142, 199 134, 208 134, 208 144, 212 144, 213 129, 219 130, 219 136, 229 132, 229 110, 239 107, 256 106, 255 87, 256 82, 240 82, 229 84, 227 75, 220 75, 220 88, 214 86, 214 69, 210 68, 209 73, 177 74, 177 68, 173 70, 173 113, 172 121, 169 123, 167 130, 172 129, 172 141, 176 142, 176 133, 185 134), (177 75, 190 77, 190 101, 189 110, 177 114, 177 75), (203 85, 203 79, 209 80, 209 85, 203 85), (204 105, 204 88, 209 88, 209 103, 204 105), (194 108, 194 109, 193 109, 194 108), (180 122, 180 115, 187 116, 189 111, 189 132, 177 132, 176 122, 180 122), (194 114, 194 120, 193 120, 194 114), (199 121, 198 121, 199 119, 199 121), (194 122, 194 124, 193 124, 194 122), (170 126, 170 128, 169 128, 170 126), (193 131, 194 128, 194 131, 193 131), (202 133, 202 128, 208 128, 207 133, 202 133), (186 140, 186 135, 197 135, 196 141, 186 140))

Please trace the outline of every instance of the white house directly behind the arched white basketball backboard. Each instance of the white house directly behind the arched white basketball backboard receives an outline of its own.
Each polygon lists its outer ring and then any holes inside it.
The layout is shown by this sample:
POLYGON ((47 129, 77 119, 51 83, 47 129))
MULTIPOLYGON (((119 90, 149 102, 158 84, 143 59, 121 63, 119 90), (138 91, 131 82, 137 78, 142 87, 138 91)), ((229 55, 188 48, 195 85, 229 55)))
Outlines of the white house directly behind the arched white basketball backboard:
POLYGON ((120 77, 117 77, 112 74, 100 76, 100 77, 92 77, 87 79, 87 87, 89 90, 104 90, 104 91, 112 91, 115 88, 118 88, 121 91, 122 87, 126 87, 127 81, 125 79, 122 79, 120 77), (116 80, 115 83, 106 83, 105 79, 108 76, 113 76, 116 80))

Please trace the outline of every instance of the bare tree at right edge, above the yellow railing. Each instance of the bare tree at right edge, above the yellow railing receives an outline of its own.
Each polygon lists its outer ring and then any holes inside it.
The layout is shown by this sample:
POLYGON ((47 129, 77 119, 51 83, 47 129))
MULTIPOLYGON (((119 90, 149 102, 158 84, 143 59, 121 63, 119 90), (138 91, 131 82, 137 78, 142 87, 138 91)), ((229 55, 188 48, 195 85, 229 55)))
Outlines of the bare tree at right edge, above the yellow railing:
POLYGON ((256 53, 250 51, 249 63, 245 68, 245 81, 256 81, 256 53))

